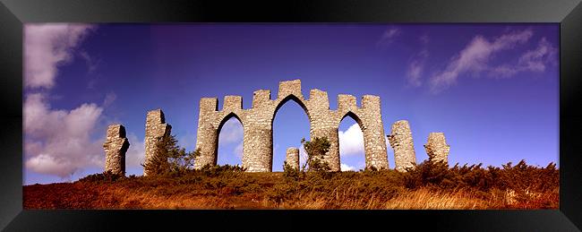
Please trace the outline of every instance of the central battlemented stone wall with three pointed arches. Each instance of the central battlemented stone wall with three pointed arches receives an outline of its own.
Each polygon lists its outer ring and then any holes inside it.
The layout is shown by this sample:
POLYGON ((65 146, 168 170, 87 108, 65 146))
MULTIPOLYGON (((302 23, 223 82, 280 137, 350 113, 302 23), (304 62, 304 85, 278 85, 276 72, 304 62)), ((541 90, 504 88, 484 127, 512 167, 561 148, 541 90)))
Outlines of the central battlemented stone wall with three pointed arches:
POLYGON ((311 125, 311 138, 326 136, 330 140, 330 151, 324 159, 332 171, 339 171, 338 127, 346 116, 354 118, 364 133, 366 167, 389 168, 380 97, 364 95, 362 107, 357 107, 354 96, 339 94, 338 109, 330 109, 326 91, 310 90, 309 99, 305 99, 300 80, 279 82, 276 99, 271 99, 270 90, 255 90, 252 107, 248 109, 243 109, 241 96, 225 96, 224 106, 220 110, 217 98, 202 98, 196 142, 201 156, 196 159, 194 167, 217 163, 218 133, 228 119, 235 117, 244 129, 243 168, 249 172, 270 172, 273 162, 273 118, 278 108, 289 100, 305 110, 311 125))

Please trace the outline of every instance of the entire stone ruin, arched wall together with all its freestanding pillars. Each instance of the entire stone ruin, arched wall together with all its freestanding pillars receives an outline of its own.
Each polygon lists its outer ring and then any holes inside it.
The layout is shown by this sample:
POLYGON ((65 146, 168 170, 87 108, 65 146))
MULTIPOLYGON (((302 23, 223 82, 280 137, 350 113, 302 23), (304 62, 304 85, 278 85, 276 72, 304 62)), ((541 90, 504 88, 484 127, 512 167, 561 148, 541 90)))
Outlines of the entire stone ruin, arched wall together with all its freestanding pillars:
MULTIPOLYGON (((234 117, 243 125, 244 130, 243 168, 246 168, 247 172, 271 172, 273 119, 278 109, 289 100, 295 101, 304 109, 310 123, 311 138, 327 137, 330 141, 330 150, 323 160, 328 162, 331 171, 340 170, 338 128, 339 123, 347 116, 352 117, 364 133, 365 167, 389 168, 380 97, 364 95, 362 106, 357 107, 354 96, 339 94, 338 108, 330 109, 326 91, 310 90, 309 99, 305 99, 301 92, 300 80, 279 82, 276 99, 271 99, 270 90, 255 90, 252 94, 252 107, 248 109, 243 108, 241 96, 225 96, 220 110, 217 98, 202 98, 196 141, 196 149, 201 150, 201 155, 194 160, 194 168, 217 165, 218 135, 222 126, 234 117)), ((147 163, 153 157, 156 142, 170 136, 172 126, 166 123, 162 110, 155 109, 148 111, 145 127, 144 163, 147 163)), ((406 120, 400 120, 392 125, 391 131, 387 137, 394 150, 396 169, 406 171, 406 168, 414 167, 416 160, 410 126, 406 120)), ((111 125, 107 131, 107 142, 104 144, 107 154, 106 170, 125 173, 125 151, 128 147, 124 126, 111 125)), ((449 145, 445 142, 444 133, 430 133, 424 148, 429 160, 447 162, 449 145)), ((287 149, 287 164, 293 168, 299 167, 297 148, 287 149)), ((144 170, 144 176, 147 175, 144 170)))

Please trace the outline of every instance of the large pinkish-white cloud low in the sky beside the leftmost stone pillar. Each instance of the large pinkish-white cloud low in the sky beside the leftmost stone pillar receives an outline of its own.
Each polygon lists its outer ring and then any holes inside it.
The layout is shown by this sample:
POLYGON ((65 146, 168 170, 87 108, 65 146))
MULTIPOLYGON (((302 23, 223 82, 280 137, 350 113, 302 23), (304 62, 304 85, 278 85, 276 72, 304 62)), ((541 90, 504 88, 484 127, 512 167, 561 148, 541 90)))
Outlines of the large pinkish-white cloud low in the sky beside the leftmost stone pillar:
POLYGON ((27 96, 23 106, 25 167, 62 178, 82 168, 103 167, 105 138, 90 138, 102 111, 95 104, 70 111, 51 109, 43 94, 27 96))

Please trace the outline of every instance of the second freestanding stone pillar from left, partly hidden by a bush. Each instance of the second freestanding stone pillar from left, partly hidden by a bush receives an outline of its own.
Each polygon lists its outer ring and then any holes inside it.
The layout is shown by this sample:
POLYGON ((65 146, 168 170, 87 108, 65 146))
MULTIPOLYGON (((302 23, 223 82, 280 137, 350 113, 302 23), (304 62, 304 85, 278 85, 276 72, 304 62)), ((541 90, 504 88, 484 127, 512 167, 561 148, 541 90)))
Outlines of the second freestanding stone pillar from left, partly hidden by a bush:
MULTIPOLYGON (((172 126, 166 123, 164 112, 161 109, 148 111, 146 116, 146 133, 145 133, 145 160, 148 163, 156 152, 156 143, 165 136, 169 136, 172 126)), ((146 170, 143 170, 143 176, 148 176, 146 170)))

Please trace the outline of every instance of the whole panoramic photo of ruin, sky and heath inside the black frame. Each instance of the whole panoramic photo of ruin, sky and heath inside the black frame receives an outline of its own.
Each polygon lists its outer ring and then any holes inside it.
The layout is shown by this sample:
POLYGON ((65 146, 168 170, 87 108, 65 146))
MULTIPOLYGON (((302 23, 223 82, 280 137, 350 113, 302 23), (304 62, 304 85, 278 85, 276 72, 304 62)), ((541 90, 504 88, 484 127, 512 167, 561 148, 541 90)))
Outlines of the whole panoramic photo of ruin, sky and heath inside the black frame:
POLYGON ((23 207, 559 209, 559 31, 25 23, 23 207))

